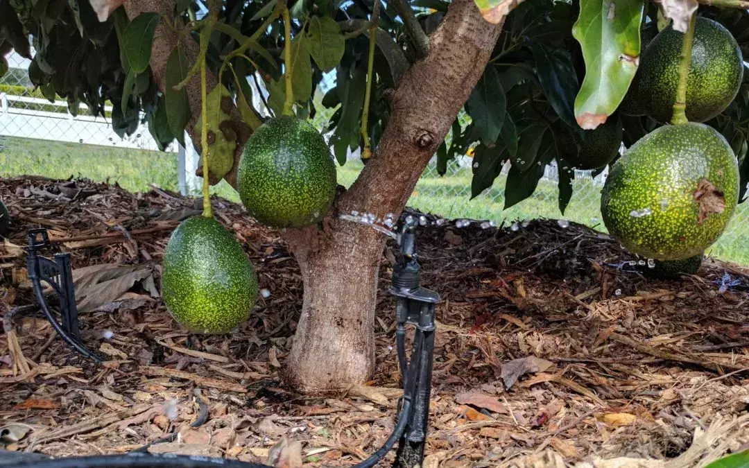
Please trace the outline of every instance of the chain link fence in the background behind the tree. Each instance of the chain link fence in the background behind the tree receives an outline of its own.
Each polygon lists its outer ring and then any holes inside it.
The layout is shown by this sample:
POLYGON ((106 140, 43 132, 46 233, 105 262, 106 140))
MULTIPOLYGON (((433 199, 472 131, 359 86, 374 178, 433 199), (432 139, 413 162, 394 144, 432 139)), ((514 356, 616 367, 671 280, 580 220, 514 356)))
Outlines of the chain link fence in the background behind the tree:
MULTIPOLYGON (((85 154, 87 148, 95 148, 96 152, 92 153, 90 159, 97 159, 95 162, 99 164, 106 165, 109 156, 112 156, 109 160, 114 160, 115 155, 120 159, 130 159, 131 162, 130 165, 123 166, 110 162, 103 171, 92 171, 87 167, 86 159, 79 158, 76 159, 77 162, 73 162, 78 167, 64 167, 70 173, 119 181, 124 172, 133 171, 133 177, 142 179, 145 183, 157 183, 170 189, 172 186, 178 187, 186 195, 198 193, 201 180, 194 175, 198 155, 195 154, 189 138, 185 139, 187 148, 181 148, 177 142, 173 142, 166 151, 160 152, 157 151, 156 142, 151 138, 147 124, 141 124, 132 136, 121 139, 112 130, 109 119, 111 107, 106 108, 108 114, 104 118, 94 118, 90 112, 86 115, 86 109, 82 106, 82 111, 73 118, 67 112, 67 103, 62 100, 49 103, 39 92, 33 90, 28 80, 28 60, 15 54, 11 54, 8 59, 10 72, 0 79, 0 177, 17 175, 14 171, 41 175, 55 174, 52 169, 59 169, 56 166, 64 162, 55 159, 55 154, 46 153, 53 145, 67 142, 68 145, 74 145, 74 152, 81 154, 85 154), (19 145, 25 148, 22 154, 17 151, 19 145), (4 147, 5 150, 2 149, 4 147), (130 153, 126 153, 127 151, 130 153), (41 158, 40 155, 45 157, 41 158), (140 159, 136 159, 136 155, 140 159), (16 165, 13 165, 11 159, 14 157, 40 158, 40 163, 31 167, 18 165, 19 162, 16 161, 16 165), (154 166, 153 161, 161 161, 163 165, 149 171, 149 166, 154 166)), ((334 80, 333 75, 325 77, 315 93, 316 102, 319 103, 334 80)), ((267 97, 267 92, 264 89, 258 91, 259 93, 253 97, 255 109, 261 109, 261 112, 267 115, 264 99, 261 98, 261 94, 267 97)), ((315 121, 322 126, 326 116, 329 117, 332 112, 327 110, 319 114, 315 121)), ((574 193, 562 215, 558 207, 558 174, 554 165, 546 168, 545 175, 539 181, 533 196, 504 210, 503 191, 508 167, 494 180, 494 185, 490 189, 471 199, 472 163, 470 156, 461 156, 450 161, 447 173, 440 177, 437 174, 436 161, 433 160, 416 185, 409 205, 448 218, 491 219, 497 225, 502 222, 512 225, 515 222, 522 223, 524 219, 545 217, 563 218, 605 231, 600 211, 600 192, 606 177, 605 172, 594 179, 589 172, 577 171, 573 182, 574 193)), ((358 151, 349 154, 348 162, 339 167, 339 182, 345 186, 350 185, 362 167, 358 151)), ((238 201, 236 193, 225 184, 219 186, 217 191, 238 201)), ((708 253, 749 265, 748 231, 749 202, 739 205, 727 230, 708 253)))

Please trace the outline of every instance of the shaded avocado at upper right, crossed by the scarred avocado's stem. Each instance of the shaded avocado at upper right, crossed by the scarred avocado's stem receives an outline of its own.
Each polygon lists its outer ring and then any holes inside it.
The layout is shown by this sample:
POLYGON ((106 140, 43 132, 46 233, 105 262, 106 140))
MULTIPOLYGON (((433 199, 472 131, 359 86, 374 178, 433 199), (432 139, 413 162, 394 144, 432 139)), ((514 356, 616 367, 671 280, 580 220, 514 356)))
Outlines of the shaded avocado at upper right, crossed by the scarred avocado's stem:
MULTIPOLYGON (((646 115, 661 123, 673 115, 683 38, 672 25, 658 33, 643 52, 632 85, 646 115)), ((697 17, 687 81, 687 119, 704 122, 723 112, 739 93, 743 76, 742 51, 736 39, 719 22, 697 17)))

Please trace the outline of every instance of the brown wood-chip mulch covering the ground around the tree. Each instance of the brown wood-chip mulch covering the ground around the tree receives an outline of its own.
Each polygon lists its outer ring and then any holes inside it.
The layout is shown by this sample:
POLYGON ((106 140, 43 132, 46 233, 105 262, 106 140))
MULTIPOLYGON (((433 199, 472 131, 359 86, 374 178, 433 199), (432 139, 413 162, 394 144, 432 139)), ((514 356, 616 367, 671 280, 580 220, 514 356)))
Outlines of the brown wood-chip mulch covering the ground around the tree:
MULTIPOLYGON (((237 331, 204 336, 159 297, 169 234, 199 200, 42 177, 0 180, 0 198, 15 223, 0 238, 0 448, 113 454, 177 432, 148 450, 345 467, 392 431, 392 241, 375 377, 297 395, 279 369, 300 272, 279 233, 240 205, 212 199, 265 291, 237 331), (83 339, 109 356, 103 366, 34 306, 22 247, 40 227, 49 256, 71 254, 83 339)), ((703 467, 749 446, 749 270, 711 258, 696 275, 652 279, 607 235, 549 219, 431 223, 417 235, 422 285, 442 297, 424 467, 703 467)))

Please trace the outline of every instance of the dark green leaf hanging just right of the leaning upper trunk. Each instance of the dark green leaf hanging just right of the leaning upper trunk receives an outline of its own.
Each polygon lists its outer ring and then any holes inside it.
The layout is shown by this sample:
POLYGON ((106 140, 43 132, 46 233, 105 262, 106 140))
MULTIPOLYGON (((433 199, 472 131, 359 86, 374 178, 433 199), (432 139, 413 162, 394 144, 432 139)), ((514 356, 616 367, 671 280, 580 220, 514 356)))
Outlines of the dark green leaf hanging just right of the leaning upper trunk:
POLYGON ((507 101, 494 67, 486 67, 476 88, 473 88, 468 97, 466 106, 473 123, 479 129, 481 141, 485 145, 497 142, 507 112, 507 101))

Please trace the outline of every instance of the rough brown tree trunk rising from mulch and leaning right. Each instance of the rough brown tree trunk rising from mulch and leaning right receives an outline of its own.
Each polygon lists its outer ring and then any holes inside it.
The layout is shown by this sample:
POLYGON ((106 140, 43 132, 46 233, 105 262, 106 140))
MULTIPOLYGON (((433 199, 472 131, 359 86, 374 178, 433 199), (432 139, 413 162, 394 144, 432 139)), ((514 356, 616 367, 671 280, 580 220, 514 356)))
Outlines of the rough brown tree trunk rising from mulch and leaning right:
MULTIPOLYGON (((174 4, 175 0, 126 2, 130 17, 142 11, 168 13, 174 4)), ((325 231, 310 226, 284 233, 304 280, 303 309, 285 365, 285 380, 297 389, 341 389, 372 375, 383 237, 337 216, 357 210, 381 218, 403 210, 427 162, 481 77, 501 28, 501 22, 492 25, 482 18, 473 0, 454 0, 429 38, 427 57, 413 64, 399 80, 378 148, 351 189, 336 200, 325 231)), ((169 30, 163 26, 157 34, 160 41, 154 43, 151 68, 163 89, 163 70, 169 44, 174 41, 165 40, 169 30), (157 45, 160 43, 164 46, 157 45)), ((194 61, 195 55, 193 44, 187 49, 188 60, 194 61)), ((187 89, 194 118, 200 94, 194 86, 187 89)), ((187 130, 194 131, 192 126, 187 130)), ((193 136, 193 141, 198 139, 193 136)), ((236 169, 235 164, 225 177, 232 185, 236 169)))

